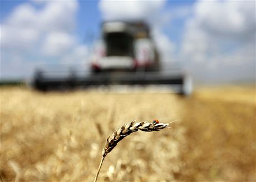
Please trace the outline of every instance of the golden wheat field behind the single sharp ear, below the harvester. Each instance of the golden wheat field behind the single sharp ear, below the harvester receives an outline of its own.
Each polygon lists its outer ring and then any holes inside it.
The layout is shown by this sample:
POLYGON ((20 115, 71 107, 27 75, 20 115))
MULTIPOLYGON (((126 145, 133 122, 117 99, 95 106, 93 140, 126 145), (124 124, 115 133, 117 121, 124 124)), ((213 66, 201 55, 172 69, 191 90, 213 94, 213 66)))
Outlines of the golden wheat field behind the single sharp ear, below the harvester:
POLYGON ((255 88, 171 93, 1 89, 3 181, 93 181, 115 128, 134 119, 171 123, 136 132, 107 154, 98 181, 255 181, 255 88))

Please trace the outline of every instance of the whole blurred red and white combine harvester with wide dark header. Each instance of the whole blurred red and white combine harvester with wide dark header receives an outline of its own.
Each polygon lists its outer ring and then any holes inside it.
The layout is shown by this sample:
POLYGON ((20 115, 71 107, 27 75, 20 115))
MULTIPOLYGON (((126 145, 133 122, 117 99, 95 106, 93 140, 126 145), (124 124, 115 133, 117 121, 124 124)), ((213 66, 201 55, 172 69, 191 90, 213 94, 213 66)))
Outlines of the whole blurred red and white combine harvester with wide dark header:
POLYGON ((93 85, 169 85, 184 95, 192 90, 191 79, 184 72, 161 69, 159 53, 144 22, 102 23, 102 40, 93 51, 90 72, 80 75, 70 69, 58 76, 57 72, 37 70, 33 87, 46 91, 93 85))

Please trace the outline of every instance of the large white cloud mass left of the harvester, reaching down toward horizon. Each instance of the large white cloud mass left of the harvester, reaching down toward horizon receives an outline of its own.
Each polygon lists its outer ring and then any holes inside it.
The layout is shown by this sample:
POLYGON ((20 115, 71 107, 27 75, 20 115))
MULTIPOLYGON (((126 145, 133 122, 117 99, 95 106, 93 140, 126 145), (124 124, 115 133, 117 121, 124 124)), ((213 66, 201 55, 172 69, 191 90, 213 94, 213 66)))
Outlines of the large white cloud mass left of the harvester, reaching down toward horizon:
POLYGON ((1 23, 1 77, 24 78, 38 63, 61 62, 67 55, 75 60, 82 48, 87 53, 74 33, 77 11, 77 1, 32 1, 14 8, 1 23))

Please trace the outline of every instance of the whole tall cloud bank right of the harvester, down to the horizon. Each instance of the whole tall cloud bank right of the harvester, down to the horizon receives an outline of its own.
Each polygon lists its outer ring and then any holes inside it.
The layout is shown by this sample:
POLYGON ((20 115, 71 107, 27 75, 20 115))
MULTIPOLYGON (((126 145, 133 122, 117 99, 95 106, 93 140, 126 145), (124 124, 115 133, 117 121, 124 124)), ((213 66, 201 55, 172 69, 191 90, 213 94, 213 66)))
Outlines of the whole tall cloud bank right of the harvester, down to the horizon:
POLYGON ((255 79, 255 27, 254 1, 198 1, 180 58, 196 78, 255 79))

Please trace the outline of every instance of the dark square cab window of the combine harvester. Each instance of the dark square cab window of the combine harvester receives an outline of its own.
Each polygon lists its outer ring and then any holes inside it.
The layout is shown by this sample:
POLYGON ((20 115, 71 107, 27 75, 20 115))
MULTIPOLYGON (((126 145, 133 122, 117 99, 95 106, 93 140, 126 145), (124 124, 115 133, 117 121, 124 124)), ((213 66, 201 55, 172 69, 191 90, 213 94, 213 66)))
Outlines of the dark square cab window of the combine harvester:
POLYGON ((115 32, 105 35, 107 56, 133 56, 134 39, 129 33, 115 32))

